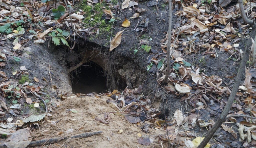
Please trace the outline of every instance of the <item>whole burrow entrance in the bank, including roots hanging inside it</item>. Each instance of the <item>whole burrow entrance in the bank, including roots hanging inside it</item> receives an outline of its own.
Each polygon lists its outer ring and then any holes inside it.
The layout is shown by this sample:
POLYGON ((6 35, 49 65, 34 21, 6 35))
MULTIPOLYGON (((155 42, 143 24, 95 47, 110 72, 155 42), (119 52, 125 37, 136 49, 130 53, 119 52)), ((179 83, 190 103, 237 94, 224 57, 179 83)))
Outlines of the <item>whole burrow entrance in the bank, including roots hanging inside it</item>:
POLYGON ((125 78, 118 74, 114 62, 108 59, 109 55, 105 55, 99 49, 95 46, 86 46, 74 49, 77 51, 76 56, 68 56, 67 66, 74 93, 105 93, 105 90, 109 89, 125 89, 125 78))

